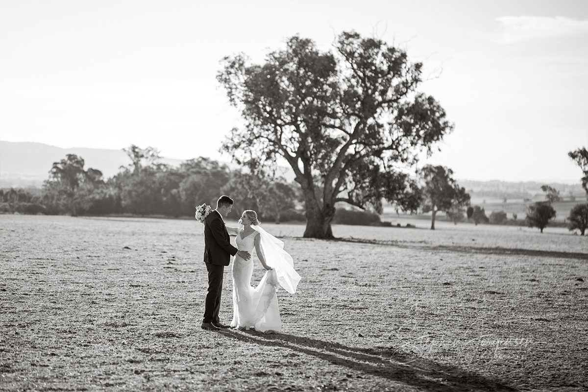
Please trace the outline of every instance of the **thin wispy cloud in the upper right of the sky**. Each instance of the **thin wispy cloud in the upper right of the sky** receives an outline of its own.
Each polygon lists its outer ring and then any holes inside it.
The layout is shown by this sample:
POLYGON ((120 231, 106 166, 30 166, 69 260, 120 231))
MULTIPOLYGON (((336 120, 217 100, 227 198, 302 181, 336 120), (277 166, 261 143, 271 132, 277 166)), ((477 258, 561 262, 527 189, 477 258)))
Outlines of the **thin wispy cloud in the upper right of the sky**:
POLYGON ((501 43, 517 43, 540 38, 570 36, 588 37, 588 19, 577 21, 564 16, 500 16, 496 18, 502 27, 501 43))

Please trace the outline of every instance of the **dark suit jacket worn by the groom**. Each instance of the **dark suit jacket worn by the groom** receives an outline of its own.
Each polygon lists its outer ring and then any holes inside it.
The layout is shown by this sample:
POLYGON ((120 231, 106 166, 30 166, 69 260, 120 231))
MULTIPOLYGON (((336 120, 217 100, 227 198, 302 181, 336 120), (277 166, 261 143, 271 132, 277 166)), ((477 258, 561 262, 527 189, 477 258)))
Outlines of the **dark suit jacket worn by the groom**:
POLYGON ((204 220, 204 262, 228 266, 237 248, 230 244, 229 233, 220 214, 213 211, 204 220))

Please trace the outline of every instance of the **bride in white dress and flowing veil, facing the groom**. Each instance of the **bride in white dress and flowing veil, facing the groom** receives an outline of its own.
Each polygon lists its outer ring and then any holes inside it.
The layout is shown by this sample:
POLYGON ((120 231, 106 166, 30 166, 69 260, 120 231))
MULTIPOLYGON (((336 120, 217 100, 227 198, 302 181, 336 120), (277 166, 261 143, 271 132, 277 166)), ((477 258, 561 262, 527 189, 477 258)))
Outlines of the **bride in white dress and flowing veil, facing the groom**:
POLYGON ((300 275, 294 270, 292 257, 283 250, 283 242, 259 226, 257 213, 245 210, 238 227, 227 227, 229 234, 236 235, 237 249, 257 253, 266 270, 257 287, 251 286, 253 257, 245 260, 235 256, 233 275, 233 320, 231 328, 253 329, 265 333, 282 330, 276 289, 282 286, 289 293, 296 292, 300 275))

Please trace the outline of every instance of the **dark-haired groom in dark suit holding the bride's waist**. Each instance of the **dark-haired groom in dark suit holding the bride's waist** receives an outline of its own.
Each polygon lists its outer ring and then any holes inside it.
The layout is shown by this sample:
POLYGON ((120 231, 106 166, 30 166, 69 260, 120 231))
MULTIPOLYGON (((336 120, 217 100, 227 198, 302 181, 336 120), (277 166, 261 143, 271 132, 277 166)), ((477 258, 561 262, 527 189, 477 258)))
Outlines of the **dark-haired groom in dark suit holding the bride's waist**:
POLYGON ((237 250, 230 244, 229 233, 226 231, 226 217, 233 207, 233 199, 220 196, 216 202, 216 210, 209 213, 204 220, 204 263, 208 270, 208 293, 206 293, 204 319, 202 329, 218 331, 228 328, 220 322, 220 295, 222 294, 222 278, 225 266, 229 265, 230 256, 239 254, 245 260, 251 255, 244 250, 237 250))

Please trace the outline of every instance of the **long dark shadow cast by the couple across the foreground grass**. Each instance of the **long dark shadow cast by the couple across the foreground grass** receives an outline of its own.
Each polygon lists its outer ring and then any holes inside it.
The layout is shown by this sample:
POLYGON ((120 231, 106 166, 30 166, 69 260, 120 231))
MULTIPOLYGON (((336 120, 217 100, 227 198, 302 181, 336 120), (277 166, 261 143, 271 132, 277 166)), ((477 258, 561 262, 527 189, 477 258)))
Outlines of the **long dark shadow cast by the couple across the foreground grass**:
POLYGON ((243 331, 233 332, 231 336, 248 343, 298 351, 352 370, 430 391, 516 391, 516 388, 500 381, 402 351, 390 353, 387 350, 362 349, 285 333, 266 335, 243 331))

